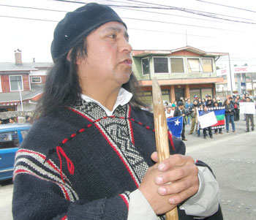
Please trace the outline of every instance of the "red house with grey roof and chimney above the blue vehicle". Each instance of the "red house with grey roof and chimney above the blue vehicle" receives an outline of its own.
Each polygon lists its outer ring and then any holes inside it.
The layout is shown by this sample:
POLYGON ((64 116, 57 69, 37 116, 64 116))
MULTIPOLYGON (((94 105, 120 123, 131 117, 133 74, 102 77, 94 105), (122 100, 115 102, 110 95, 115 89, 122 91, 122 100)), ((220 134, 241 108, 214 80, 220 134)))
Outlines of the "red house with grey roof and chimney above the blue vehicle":
POLYGON ((20 50, 15 50, 15 63, 0 63, 0 113, 34 110, 51 66, 35 61, 23 63, 20 50))

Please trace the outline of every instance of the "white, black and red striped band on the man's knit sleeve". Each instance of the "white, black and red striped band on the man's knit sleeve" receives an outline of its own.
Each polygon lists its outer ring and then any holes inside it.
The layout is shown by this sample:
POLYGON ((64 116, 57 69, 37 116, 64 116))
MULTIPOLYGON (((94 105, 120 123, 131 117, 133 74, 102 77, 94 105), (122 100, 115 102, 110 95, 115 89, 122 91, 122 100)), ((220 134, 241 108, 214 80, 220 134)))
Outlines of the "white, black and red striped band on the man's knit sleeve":
POLYGON ((78 194, 72 189, 67 176, 64 174, 65 182, 61 180, 60 169, 56 164, 48 159, 42 153, 27 149, 19 149, 15 155, 15 170, 13 172, 13 181, 18 174, 29 174, 44 181, 50 181, 59 186, 66 200, 75 202, 79 200, 78 194))

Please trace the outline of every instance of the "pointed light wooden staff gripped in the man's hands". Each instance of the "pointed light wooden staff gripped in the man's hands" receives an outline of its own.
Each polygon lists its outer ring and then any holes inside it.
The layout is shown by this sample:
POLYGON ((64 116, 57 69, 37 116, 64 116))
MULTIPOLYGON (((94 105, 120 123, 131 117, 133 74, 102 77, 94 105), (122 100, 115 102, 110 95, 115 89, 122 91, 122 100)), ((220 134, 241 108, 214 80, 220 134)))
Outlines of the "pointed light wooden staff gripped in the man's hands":
MULTIPOLYGON (((164 103, 162 102, 162 91, 157 82, 157 78, 153 78, 153 108, 154 108, 154 129, 156 136, 157 154, 159 162, 169 158, 169 141, 167 134, 167 121, 165 117, 164 103)), ((166 214, 166 220, 178 220, 178 210, 173 208, 166 214)))

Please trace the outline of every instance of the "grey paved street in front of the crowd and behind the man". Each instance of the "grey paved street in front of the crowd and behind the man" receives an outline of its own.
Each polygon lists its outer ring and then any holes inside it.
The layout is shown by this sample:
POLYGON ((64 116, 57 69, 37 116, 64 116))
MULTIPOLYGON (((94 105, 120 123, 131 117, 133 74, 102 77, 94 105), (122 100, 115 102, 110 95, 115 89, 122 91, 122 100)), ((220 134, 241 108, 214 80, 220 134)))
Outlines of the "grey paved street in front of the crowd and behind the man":
MULTIPOLYGON (((220 187, 224 219, 256 219, 256 132, 245 132, 245 121, 236 122, 236 132, 214 134, 203 139, 189 135, 187 154, 206 162, 214 170, 220 187)), ((0 219, 11 220, 12 183, 0 185, 0 219)))

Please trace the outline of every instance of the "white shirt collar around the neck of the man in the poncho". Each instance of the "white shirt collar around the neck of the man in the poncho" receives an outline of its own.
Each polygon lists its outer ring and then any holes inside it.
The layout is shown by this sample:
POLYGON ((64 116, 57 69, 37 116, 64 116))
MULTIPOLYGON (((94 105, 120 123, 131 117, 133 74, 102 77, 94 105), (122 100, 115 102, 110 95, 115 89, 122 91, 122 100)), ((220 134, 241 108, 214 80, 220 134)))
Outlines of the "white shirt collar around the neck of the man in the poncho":
POLYGON ((124 88, 120 88, 119 92, 118 92, 118 96, 117 96, 117 99, 116 99, 116 103, 113 107, 113 110, 110 111, 108 110, 108 108, 106 108, 105 106, 103 106, 100 102, 98 102, 97 100, 95 99, 92 99, 91 97, 89 96, 86 96, 85 94, 81 94, 81 98, 83 100, 85 100, 86 102, 94 102, 94 103, 97 103, 97 105, 99 105, 100 107, 102 107, 103 110, 105 110, 105 113, 110 116, 110 115, 113 115, 113 111, 116 110, 116 107, 118 107, 118 105, 126 105, 131 99, 132 99, 132 94, 127 91, 126 89, 124 88))

